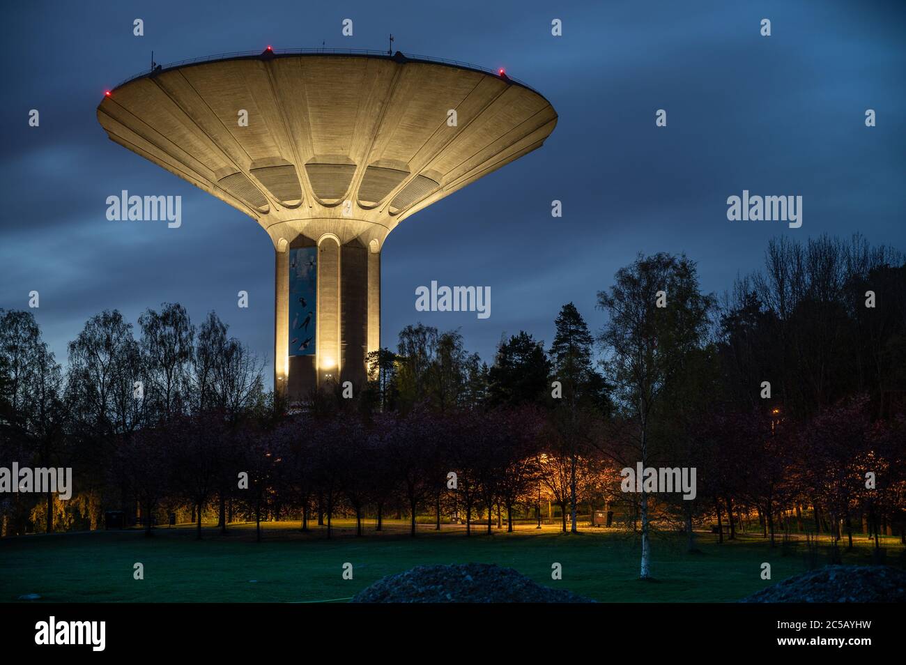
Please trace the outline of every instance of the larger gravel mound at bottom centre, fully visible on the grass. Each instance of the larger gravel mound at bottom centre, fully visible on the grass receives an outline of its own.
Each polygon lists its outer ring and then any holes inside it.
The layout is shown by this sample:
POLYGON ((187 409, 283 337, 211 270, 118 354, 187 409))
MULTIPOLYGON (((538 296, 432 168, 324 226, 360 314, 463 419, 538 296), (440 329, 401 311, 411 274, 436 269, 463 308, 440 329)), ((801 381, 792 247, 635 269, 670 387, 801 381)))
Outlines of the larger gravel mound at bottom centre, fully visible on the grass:
POLYGON ((352 602, 594 602, 548 589, 512 568, 491 564, 419 565, 388 575, 352 602))

